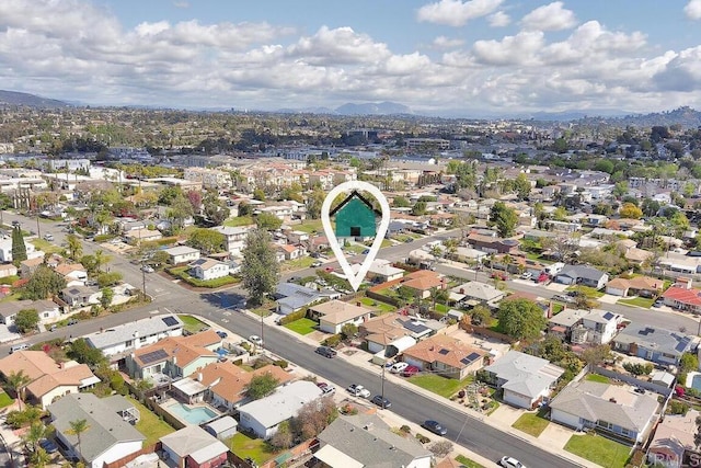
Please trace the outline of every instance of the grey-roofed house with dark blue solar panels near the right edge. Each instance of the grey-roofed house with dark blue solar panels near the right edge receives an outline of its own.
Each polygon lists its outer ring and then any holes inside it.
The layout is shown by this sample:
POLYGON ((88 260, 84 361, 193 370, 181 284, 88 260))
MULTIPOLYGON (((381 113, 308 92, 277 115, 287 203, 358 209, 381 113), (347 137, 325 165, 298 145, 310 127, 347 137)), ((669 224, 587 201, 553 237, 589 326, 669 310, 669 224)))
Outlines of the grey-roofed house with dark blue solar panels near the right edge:
POLYGON ((631 323, 612 340, 613 351, 642 357, 659 365, 678 365, 683 353, 691 350, 691 336, 677 331, 631 323))

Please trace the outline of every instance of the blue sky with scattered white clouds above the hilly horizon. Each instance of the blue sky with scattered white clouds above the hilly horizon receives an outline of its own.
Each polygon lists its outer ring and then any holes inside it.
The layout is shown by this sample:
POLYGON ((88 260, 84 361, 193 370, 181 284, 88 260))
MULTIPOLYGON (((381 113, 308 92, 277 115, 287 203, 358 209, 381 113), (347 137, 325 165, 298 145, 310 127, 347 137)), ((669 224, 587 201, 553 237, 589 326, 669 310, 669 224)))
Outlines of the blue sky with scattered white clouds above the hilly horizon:
POLYGON ((0 0, 0 89, 463 117, 701 110, 701 0, 0 0))

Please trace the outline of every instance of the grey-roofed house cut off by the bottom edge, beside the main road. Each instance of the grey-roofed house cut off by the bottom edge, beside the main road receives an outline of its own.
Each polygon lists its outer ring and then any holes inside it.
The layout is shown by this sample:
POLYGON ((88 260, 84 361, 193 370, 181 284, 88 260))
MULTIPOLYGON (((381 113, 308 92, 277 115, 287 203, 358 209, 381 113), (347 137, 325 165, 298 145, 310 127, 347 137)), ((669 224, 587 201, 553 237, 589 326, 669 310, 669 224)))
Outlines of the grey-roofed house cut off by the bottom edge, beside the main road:
POLYGON ((340 415, 318 436, 314 458, 329 467, 430 468, 433 455, 402 437, 377 414, 340 415))

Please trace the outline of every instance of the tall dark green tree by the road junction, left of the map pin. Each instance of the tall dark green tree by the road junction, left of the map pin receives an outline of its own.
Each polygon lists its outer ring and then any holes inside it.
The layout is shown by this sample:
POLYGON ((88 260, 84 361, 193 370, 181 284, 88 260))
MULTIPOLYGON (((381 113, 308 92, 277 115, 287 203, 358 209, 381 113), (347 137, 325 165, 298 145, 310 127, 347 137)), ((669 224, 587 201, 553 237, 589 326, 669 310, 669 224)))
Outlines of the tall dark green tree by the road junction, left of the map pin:
POLYGON ((241 276, 252 305, 263 304, 279 281, 279 264, 271 242, 271 236, 262 229, 251 230, 245 239, 241 276))

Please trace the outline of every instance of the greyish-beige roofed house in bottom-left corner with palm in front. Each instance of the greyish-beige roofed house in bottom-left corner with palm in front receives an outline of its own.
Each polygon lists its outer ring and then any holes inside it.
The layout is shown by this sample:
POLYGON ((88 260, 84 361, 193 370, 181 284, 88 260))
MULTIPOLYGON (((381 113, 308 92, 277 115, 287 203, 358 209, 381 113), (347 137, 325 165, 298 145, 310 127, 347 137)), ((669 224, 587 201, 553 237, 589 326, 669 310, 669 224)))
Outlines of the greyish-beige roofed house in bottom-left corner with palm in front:
POLYGON ((47 410, 56 437, 90 468, 102 468, 139 452, 146 440, 133 425, 140 418, 139 410, 120 395, 97 398, 93 393, 71 393, 47 410), (80 434, 80 443, 70 425, 77 420, 85 420, 88 425, 80 434))

